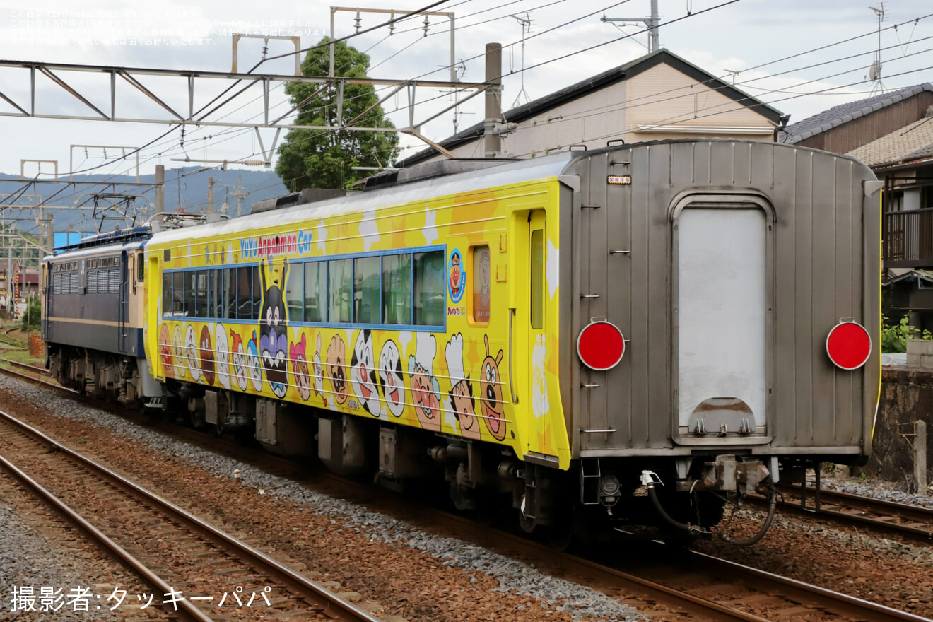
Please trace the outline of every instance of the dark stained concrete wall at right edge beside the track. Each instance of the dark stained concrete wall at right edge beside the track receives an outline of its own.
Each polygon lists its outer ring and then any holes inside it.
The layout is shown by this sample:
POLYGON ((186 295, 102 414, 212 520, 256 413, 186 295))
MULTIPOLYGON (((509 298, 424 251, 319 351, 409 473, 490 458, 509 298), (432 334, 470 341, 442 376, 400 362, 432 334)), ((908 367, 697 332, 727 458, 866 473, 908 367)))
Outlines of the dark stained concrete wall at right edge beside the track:
MULTIPOLYGON (((901 433, 912 434, 913 422, 919 419, 927 423, 926 455, 933 456, 933 370, 884 367, 871 457, 864 469, 868 475, 913 485, 913 452, 907 443, 913 437, 904 438, 901 433)), ((933 481, 930 462, 927 481, 933 481)))

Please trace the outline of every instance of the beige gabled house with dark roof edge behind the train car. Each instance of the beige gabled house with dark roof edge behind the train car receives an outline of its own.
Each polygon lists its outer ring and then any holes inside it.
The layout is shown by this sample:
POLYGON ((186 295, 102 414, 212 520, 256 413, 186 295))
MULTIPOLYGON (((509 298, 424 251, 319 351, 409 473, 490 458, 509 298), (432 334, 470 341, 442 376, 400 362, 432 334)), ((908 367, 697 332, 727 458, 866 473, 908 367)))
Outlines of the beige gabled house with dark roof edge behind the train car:
MULTIPOLYGON (((665 138, 746 138, 773 141, 787 117, 688 62, 660 49, 505 111, 503 157, 536 158, 570 145, 589 148, 665 138)), ((483 158, 484 123, 439 142, 458 158, 483 158)), ((395 166, 443 159, 424 149, 395 166)))

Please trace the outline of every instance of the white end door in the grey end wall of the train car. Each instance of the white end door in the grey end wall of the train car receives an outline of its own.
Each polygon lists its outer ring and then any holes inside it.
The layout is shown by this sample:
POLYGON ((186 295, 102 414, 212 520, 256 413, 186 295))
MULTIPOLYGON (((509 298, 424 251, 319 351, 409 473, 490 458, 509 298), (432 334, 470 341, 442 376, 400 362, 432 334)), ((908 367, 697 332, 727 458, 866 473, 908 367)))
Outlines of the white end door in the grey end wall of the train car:
POLYGON ((766 442, 773 339, 769 206, 687 200, 675 215, 675 440, 766 442))

